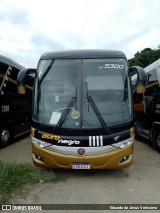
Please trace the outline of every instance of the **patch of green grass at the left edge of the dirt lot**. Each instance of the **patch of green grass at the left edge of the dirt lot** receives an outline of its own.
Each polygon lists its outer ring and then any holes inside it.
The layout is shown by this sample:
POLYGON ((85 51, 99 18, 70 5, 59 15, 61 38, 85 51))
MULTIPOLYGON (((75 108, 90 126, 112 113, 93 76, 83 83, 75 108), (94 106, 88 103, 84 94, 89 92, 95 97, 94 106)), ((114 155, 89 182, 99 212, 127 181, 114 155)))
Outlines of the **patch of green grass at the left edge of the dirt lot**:
POLYGON ((12 193, 18 193, 26 184, 57 182, 62 178, 31 164, 14 164, 0 161, 0 204, 6 203, 12 193))

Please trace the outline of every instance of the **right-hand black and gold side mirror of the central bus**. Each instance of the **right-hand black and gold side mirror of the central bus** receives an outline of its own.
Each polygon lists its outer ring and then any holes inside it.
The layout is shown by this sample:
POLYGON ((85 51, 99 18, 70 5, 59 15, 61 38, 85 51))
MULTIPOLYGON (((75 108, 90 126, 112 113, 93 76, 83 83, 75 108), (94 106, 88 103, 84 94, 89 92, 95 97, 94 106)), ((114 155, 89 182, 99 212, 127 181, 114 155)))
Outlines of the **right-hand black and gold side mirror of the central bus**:
POLYGON ((146 91, 146 82, 147 82, 147 75, 146 72, 142 67, 139 66, 132 66, 129 68, 130 72, 137 73, 137 85, 136 85, 136 93, 143 94, 146 91))

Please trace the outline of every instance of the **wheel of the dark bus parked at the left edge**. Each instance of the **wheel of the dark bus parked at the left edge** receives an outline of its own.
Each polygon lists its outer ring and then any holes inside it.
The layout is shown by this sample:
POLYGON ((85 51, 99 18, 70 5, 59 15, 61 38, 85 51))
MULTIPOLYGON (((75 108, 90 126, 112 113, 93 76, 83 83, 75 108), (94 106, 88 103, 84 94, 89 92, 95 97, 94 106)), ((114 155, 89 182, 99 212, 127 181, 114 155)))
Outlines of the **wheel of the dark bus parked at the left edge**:
POLYGON ((11 127, 4 126, 0 130, 0 148, 6 147, 13 139, 11 127))

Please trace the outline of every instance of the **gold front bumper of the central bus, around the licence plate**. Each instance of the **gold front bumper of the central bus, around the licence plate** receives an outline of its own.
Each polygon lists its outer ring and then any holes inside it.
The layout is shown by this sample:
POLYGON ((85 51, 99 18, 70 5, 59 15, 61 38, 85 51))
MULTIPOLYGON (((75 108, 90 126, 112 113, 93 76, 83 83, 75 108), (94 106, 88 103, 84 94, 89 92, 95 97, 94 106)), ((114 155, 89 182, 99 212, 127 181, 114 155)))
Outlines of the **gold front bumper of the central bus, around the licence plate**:
POLYGON ((83 157, 50 151, 32 144, 32 159, 36 166, 43 168, 72 169, 75 163, 87 163, 90 169, 126 168, 133 161, 133 144, 123 149, 83 157))

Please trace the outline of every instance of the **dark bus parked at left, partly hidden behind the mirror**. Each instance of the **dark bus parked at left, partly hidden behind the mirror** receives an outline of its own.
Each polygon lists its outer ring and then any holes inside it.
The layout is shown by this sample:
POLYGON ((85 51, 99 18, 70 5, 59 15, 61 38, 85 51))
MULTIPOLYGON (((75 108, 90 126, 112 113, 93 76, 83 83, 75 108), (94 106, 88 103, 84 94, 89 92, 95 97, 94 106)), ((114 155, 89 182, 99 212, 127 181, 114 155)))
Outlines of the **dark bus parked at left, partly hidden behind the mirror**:
POLYGON ((0 148, 30 131, 33 78, 27 76, 25 96, 18 94, 17 75, 22 68, 0 56, 0 148))

